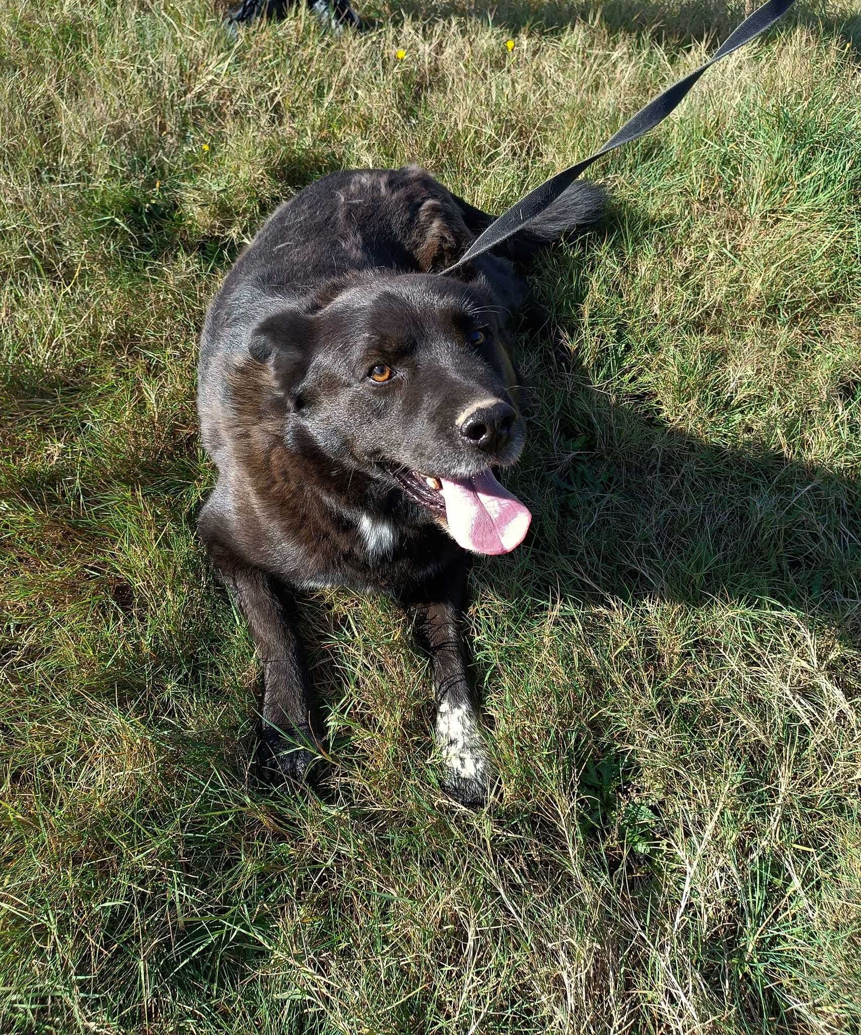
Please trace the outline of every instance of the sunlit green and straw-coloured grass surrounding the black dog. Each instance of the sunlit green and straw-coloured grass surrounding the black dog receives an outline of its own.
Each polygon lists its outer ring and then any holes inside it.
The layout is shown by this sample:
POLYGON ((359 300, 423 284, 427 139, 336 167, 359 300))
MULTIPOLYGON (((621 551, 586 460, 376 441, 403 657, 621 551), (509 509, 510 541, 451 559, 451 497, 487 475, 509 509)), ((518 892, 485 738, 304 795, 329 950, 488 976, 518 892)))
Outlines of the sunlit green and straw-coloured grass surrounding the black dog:
POLYGON ((501 210, 737 11, 375 13, 236 47, 209 0, 0 14, 0 1030, 858 1032, 851 4, 603 161, 606 226, 541 266, 535 531, 468 619, 500 800, 440 796, 425 662, 345 593, 307 619, 332 800, 248 776, 257 669, 193 535, 219 277, 334 169, 501 210))

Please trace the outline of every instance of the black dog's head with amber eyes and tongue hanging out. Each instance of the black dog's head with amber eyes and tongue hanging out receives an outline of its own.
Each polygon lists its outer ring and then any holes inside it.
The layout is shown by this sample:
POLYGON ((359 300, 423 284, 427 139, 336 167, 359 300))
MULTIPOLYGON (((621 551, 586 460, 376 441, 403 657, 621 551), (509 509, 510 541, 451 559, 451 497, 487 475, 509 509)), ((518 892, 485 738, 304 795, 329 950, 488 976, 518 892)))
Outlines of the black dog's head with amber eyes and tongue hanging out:
POLYGON ((481 282, 375 273, 314 312, 276 307, 249 352, 284 401, 288 449, 397 485, 465 549, 500 554, 529 525, 492 472, 524 440, 508 316, 481 282))

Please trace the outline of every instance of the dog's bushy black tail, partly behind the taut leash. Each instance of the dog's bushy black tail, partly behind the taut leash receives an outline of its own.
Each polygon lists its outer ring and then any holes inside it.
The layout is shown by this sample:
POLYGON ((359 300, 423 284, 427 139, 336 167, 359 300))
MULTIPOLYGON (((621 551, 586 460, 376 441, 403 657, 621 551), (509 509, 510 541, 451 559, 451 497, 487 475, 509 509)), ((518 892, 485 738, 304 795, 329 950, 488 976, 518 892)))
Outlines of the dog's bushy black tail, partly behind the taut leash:
MULTIPOLYGON (((487 230, 493 223, 494 216, 453 197, 463 213, 464 223, 474 234, 487 230)), ((499 252, 504 252, 515 262, 528 261, 543 245, 593 226, 604 215, 606 207, 607 191, 604 187, 591 180, 575 180, 528 227, 500 245, 499 252)))

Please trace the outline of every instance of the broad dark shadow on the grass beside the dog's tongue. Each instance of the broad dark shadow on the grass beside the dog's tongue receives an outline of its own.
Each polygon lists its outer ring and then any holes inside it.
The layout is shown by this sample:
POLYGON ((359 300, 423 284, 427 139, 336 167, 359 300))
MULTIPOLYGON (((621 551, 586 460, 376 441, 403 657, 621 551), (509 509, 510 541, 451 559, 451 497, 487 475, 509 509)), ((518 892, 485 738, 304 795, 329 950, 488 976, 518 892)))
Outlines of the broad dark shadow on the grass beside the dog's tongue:
MULTIPOLYGON (((857 380, 837 391, 861 401, 857 380)), ((540 432, 532 451, 544 487, 528 556, 511 574, 484 565, 479 593, 768 600, 861 633, 861 489, 849 478, 709 444, 608 403, 585 377, 553 434, 540 432)))

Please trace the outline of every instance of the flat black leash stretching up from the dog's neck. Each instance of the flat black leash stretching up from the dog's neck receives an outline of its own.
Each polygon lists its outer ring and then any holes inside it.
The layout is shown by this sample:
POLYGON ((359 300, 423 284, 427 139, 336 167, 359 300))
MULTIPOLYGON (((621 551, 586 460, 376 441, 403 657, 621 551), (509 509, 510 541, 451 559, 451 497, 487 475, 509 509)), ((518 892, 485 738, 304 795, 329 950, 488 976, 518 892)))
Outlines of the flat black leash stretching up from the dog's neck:
POLYGON ((617 134, 607 141, 601 150, 595 151, 590 157, 584 158, 583 161, 578 161, 577 165, 571 166, 561 173, 557 173, 549 180, 545 180, 541 186, 535 187, 534 190, 530 190, 516 205, 512 205, 508 212, 503 212, 484 233, 475 238, 470 247, 464 252, 453 266, 442 270, 442 272, 451 273, 453 270, 458 269, 472 259, 476 259, 486 252, 490 252, 491 248, 495 248, 498 244, 501 244, 523 230, 530 219, 533 219, 556 201, 559 195, 566 187, 571 186, 577 177, 603 154, 621 147, 622 144, 628 144, 631 141, 637 140, 638 137, 642 137, 649 129, 653 129, 658 122, 663 122, 707 68, 710 68, 715 61, 719 61, 721 58, 727 57, 728 54, 732 54, 733 51, 737 51, 740 47, 744 47, 745 43, 749 43, 751 39, 755 39, 760 33, 765 32, 766 29, 770 29, 778 19, 786 14, 793 3, 795 3, 795 0, 767 0, 767 3, 764 3, 762 7, 755 10, 748 18, 745 18, 724 46, 704 65, 700 65, 696 71, 691 71, 688 76, 680 79, 678 83, 674 83, 673 86, 665 90, 654 100, 650 100, 645 108, 641 108, 633 118, 625 122, 617 134))

